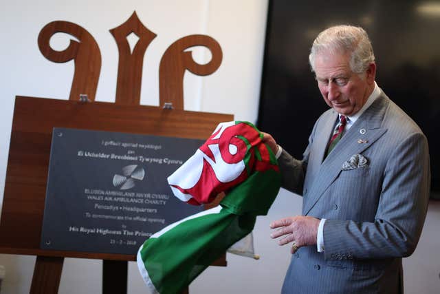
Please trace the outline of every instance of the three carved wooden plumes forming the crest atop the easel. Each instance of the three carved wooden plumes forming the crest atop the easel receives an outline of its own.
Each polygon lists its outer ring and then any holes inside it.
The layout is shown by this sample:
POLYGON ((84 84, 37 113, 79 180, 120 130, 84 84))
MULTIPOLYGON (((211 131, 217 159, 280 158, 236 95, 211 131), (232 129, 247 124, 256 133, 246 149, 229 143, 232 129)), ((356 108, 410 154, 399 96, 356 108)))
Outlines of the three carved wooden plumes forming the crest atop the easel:
MULTIPOLYGON (((148 30, 133 12, 122 25, 110 30, 118 45, 119 64, 118 82, 116 85, 115 103, 124 105, 140 105, 142 67, 148 45, 156 34, 148 30), (130 50, 126 37, 135 34, 139 39, 130 50)), ((101 69, 101 54, 95 39, 87 30, 68 21, 53 21, 45 25, 39 34, 41 53, 50 61, 64 63, 74 59, 75 72, 69 100, 78 100, 80 94, 87 94, 90 101, 95 100, 96 87, 101 69), (56 51, 50 47, 50 38, 57 32, 72 34, 80 42, 71 40, 66 50, 56 51)), ((184 109, 184 74, 189 70, 199 76, 207 76, 215 72, 223 58, 221 47, 210 36, 193 34, 175 41, 164 52, 159 65, 159 105, 173 103, 173 108, 184 109), (204 46, 212 54, 207 64, 199 64, 192 59, 192 52, 187 51, 194 46, 204 46)))

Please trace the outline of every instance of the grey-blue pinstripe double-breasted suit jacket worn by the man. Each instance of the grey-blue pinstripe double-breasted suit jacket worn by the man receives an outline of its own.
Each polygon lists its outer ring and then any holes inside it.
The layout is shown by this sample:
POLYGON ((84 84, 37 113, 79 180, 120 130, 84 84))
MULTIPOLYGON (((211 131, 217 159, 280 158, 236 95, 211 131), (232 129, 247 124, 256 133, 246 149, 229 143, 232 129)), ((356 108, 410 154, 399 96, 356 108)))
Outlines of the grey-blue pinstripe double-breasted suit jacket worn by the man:
POLYGON ((428 207, 428 141, 381 90, 324 159, 338 114, 316 121, 303 160, 283 151, 283 187, 303 195, 303 215, 326 218, 324 253, 292 255, 283 293, 402 293, 401 258, 419 240, 428 207), (361 154, 367 165, 342 169, 361 154))

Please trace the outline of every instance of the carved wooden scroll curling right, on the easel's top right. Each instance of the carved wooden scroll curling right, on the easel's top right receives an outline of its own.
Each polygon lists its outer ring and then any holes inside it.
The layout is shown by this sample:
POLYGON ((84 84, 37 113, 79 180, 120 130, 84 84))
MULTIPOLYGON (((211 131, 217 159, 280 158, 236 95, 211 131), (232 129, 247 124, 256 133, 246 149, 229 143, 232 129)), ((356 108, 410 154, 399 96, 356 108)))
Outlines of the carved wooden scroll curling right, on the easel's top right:
POLYGON ((199 76, 212 74, 219 68, 223 54, 217 41, 210 36, 193 34, 181 38, 165 51, 159 67, 159 105, 173 103, 175 109, 184 109, 184 74, 189 70, 199 76), (201 65, 192 59, 188 48, 202 45, 211 51, 209 63, 201 65))

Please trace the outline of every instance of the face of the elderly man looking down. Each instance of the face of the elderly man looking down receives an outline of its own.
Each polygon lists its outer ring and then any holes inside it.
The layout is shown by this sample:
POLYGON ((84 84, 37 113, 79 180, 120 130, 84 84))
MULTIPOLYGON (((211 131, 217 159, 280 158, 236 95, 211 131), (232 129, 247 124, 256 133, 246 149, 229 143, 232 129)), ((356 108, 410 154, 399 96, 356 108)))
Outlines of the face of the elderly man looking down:
POLYGON ((339 114, 352 116, 366 103, 374 89, 375 64, 363 74, 350 68, 350 54, 321 52, 315 56, 318 87, 327 105, 339 114))

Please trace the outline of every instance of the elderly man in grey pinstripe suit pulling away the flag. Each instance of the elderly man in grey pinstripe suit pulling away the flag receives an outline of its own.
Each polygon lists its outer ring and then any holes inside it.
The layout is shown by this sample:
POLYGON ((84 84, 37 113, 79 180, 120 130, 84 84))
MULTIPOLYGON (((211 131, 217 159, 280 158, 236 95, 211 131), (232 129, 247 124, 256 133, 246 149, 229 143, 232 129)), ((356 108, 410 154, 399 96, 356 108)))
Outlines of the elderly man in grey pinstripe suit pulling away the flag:
POLYGON ((362 28, 321 32, 309 61, 331 109, 303 160, 264 134, 283 187, 303 196, 303 216, 271 224, 271 237, 292 246, 283 293, 402 293, 401 258, 415 250, 428 207, 426 137, 375 83, 362 28))

